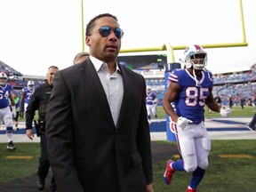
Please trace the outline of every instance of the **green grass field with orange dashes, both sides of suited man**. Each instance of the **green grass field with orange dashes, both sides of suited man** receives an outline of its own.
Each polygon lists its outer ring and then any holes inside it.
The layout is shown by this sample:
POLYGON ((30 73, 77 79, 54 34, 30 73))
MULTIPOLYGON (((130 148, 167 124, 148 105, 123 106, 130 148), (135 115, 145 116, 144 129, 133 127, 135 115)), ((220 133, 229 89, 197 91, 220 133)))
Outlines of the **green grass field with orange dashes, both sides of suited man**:
MULTIPOLYGON (((176 148, 175 142, 161 142, 176 148)), ((16 143, 16 150, 6 149, 0 143, 0 185, 36 173, 39 143, 16 143)), ((198 190, 207 192, 243 191, 256 188, 256 141, 255 140, 212 140, 209 156, 210 166, 198 190)), ((170 156, 175 160, 175 157, 170 156)), ((164 183, 163 174, 166 159, 153 164, 155 192, 186 191, 190 174, 175 172, 171 185, 164 183)), ((31 181, 33 182, 33 181, 31 181)))

